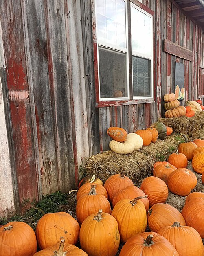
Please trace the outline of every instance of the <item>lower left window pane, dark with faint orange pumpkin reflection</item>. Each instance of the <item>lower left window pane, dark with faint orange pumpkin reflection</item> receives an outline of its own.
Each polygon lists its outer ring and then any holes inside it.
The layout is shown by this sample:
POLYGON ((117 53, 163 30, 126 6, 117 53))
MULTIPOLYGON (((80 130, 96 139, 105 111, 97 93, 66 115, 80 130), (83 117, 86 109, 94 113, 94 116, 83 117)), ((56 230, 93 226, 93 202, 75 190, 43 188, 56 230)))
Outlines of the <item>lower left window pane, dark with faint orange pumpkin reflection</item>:
POLYGON ((126 54, 99 47, 101 98, 127 98, 126 54))

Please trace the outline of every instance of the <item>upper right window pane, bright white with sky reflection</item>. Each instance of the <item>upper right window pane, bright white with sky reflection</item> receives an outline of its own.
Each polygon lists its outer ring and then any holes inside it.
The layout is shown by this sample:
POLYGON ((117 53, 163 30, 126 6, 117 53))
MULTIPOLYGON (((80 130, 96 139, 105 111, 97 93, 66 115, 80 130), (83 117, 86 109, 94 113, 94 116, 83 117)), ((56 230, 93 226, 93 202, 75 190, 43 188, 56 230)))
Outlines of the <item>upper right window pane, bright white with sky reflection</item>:
POLYGON ((132 50, 151 56, 151 18, 131 7, 132 50))

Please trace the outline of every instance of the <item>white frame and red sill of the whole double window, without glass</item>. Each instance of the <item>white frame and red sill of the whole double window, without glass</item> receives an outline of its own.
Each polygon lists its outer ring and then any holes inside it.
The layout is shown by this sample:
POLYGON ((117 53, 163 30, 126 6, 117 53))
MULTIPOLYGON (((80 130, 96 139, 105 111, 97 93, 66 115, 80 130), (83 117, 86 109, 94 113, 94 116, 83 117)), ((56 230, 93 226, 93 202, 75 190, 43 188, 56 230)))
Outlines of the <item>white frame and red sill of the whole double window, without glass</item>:
MULTIPOLYGON (((154 17, 153 15, 151 15, 148 11, 143 10, 140 5, 135 4, 134 2, 132 2, 133 0, 123 0, 123 2, 125 2, 125 28, 126 28, 126 49, 123 47, 119 47, 116 45, 112 45, 110 43, 105 43, 105 42, 101 42, 100 40, 98 40, 97 38, 97 0, 93 0, 93 13, 94 14, 94 22, 93 26, 95 25, 95 29, 94 29, 94 37, 93 40, 96 43, 96 51, 97 51, 97 68, 95 69, 95 71, 97 71, 97 73, 95 73, 95 76, 97 76, 97 83, 96 86, 98 87, 97 89, 97 107, 99 106, 120 106, 126 104, 134 104, 134 103, 151 103, 151 102, 155 102, 154 101, 154 97, 155 97, 155 92, 154 92, 154 45, 153 45, 153 40, 154 40, 154 33, 153 33, 153 29, 154 29, 154 17), (128 4, 130 6, 130 10, 129 10, 129 16, 130 16, 130 20, 131 20, 131 8, 134 7, 135 9, 138 9, 138 11, 143 12, 145 15, 149 16, 151 18, 151 58, 150 56, 147 56, 145 54, 140 54, 138 52, 132 51, 132 49, 129 49, 129 42, 128 42, 128 32, 129 32, 129 28, 128 25, 131 27, 131 23, 128 24, 128 4), (100 67, 99 67, 99 47, 104 47, 110 50, 115 50, 118 52, 122 52, 126 54, 126 61, 127 61, 127 97, 120 97, 120 98, 101 98, 101 90, 100 90, 100 67), (130 88, 130 77, 129 77, 129 54, 132 54, 131 58, 133 56, 137 56, 137 57, 141 57, 141 58, 145 58, 148 60, 151 60, 151 96, 137 96, 134 97, 134 87, 133 87, 133 65, 132 65, 132 88, 130 88), (130 90, 132 90, 132 96, 130 99, 130 90), (101 105, 100 102, 104 102, 105 105, 101 105), (111 103, 112 102, 112 103, 111 103)), ((143 5, 143 4, 142 4, 143 5)), ((151 10, 150 10, 151 11, 151 10)), ((131 43, 132 45, 132 43, 131 43)), ((131 61, 132 62, 132 61, 131 61)))

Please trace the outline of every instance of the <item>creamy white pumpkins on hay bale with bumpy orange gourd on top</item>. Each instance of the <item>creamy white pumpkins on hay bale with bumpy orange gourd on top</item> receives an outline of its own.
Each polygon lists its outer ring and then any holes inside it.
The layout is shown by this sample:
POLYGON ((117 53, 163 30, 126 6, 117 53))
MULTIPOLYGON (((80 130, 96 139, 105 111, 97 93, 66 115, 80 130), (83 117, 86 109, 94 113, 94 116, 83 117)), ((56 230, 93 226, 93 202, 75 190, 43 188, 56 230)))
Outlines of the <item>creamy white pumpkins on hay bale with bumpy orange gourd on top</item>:
POLYGON ((129 133, 125 142, 118 142, 114 139, 110 141, 110 149, 117 154, 129 154, 134 150, 140 150, 143 146, 143 139, 136 133, 129 133))

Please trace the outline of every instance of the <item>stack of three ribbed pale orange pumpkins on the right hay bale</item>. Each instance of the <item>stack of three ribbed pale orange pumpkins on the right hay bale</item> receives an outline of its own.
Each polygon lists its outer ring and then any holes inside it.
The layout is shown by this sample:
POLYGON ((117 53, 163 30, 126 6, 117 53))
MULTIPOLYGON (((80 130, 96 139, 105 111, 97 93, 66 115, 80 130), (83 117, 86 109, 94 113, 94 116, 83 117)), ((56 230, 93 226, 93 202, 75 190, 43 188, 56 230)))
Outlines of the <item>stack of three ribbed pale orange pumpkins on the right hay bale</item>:
POLYGON ((164 109, 166 110, 165 118, 182 117, 186 115, 186 108, 179 106, 180 102, 175 99, 174 93, 165 94, 164 101, 164 109))

